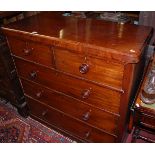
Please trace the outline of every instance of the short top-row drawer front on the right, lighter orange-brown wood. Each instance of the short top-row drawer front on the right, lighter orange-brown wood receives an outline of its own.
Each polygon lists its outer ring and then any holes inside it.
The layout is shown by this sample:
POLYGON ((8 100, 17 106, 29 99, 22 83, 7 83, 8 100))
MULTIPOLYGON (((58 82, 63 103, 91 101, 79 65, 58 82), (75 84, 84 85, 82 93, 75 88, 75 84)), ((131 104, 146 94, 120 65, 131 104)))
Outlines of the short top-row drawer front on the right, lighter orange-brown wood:
POLYGON ((122 88, 123 65, 54 49, 56 68, 91 81, 122 88))

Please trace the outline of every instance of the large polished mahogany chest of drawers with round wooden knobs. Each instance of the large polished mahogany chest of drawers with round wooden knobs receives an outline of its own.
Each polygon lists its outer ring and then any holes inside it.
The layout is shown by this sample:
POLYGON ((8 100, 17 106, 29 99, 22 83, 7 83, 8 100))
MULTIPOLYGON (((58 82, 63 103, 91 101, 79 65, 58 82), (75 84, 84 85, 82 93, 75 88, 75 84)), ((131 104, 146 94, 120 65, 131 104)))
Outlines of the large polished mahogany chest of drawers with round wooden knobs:
POLYGON ((31 116, 81 142, 122 142, 150 27, 43 12, 3 32, 31 116))

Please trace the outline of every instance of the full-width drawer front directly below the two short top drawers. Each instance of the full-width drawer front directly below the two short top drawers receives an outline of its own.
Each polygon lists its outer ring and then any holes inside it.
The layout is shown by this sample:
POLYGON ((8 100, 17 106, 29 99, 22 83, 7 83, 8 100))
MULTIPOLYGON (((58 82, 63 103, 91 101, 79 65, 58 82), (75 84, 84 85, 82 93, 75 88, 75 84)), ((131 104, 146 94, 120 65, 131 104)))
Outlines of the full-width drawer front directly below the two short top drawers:
POLYGON ((119 113, 120 93, 15 58, 20 76, 94 106, 119 113))

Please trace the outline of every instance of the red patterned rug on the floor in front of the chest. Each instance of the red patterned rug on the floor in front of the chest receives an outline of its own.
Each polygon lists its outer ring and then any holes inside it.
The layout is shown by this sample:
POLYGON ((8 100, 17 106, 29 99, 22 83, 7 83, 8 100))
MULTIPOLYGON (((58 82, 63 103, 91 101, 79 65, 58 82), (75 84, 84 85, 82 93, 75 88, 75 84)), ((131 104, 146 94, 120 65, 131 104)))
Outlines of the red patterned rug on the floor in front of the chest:
POLYGON ((34 119, 22 118, 10 103, 0 99, 0 143, 72 143, 71 139, 34 119))

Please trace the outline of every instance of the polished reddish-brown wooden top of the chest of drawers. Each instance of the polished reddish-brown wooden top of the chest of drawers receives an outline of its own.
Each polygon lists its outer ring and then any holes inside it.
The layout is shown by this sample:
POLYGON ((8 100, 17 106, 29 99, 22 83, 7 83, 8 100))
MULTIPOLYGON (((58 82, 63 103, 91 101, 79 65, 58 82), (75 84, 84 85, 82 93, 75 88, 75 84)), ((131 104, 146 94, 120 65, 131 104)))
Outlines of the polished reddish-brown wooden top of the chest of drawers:
POLYGON ((43 12, 5 26, 14 34, 37 35, 38 41, 99 58, 138 62, 152 29, 95 19, 64 17, 63 12, 43 12), (46 39, 45 39, 46 38, 46 39))

